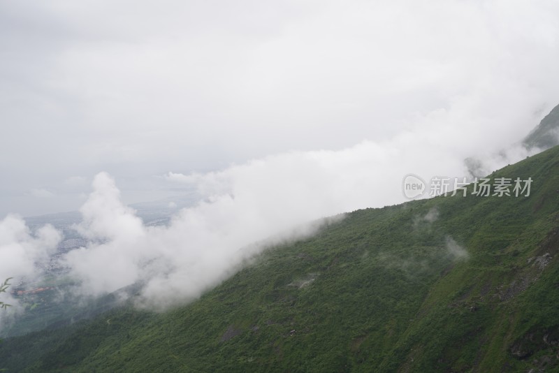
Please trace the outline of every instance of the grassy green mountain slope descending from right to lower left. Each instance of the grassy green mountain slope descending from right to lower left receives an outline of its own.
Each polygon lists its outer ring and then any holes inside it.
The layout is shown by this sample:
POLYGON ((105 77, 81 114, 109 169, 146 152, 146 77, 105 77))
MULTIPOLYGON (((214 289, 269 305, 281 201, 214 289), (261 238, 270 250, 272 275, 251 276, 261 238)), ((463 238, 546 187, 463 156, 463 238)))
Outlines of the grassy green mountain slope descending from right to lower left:
POLYGON ((491 175, 530 196, 359 210, 196 302, 6 339, 13 372, 559 370, 559 147, 491 175))

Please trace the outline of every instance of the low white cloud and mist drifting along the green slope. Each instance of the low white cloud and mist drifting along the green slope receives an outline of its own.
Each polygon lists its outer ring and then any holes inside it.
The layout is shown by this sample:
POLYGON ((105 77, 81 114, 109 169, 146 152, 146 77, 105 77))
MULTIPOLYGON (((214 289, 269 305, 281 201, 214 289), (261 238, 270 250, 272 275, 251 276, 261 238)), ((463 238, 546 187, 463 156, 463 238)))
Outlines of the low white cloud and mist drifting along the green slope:
MULTIPOLYGON (((338 151, 277 154, 218 172, 168 173, 169 182, 196 186, 203 199, 165 226, 145 225, 122 203, 115 180, 99 173, 80 208, 82 221, 73 227, 88 243, 60 261, 79 284, 75 292, 80 295, 141 284, 138 305, 166 309, 188 302, 271 244, 312 235, 344 212, 402 202, 402 176, 410 171, 467 175, 463 154, 452 154, 451 144, 433 143, 433 138, 404 133, 383 144, 365 141, 338 151)), ((516 159, 492 164, 504 166, 525 156, 514 154, 516 159)), ((424 217, 435 219, 436 211, 424 217)), ((14 284, 40 276, 37 263, 44 263, 61 239, 52 226, 31 232, 23 219, 9 215, 0 221, 0 275, 14 277, 14 284)), ((455 242, 447 246, 454 256, 467 256, 455 242)), ((15 299, 8 301, 17 305, 15 299)))

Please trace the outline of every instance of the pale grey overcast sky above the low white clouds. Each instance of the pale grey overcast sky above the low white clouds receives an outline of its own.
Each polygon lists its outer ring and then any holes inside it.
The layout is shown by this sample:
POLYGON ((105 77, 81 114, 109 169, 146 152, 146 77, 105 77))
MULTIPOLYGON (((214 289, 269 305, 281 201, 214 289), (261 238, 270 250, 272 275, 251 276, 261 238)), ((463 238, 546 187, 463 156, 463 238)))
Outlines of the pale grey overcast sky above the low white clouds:
POLYGON ((77 210, 100 171, 131 203, 309 154, 341 178, 398 162, 363 204, 398 202, 400 170, 460 175, 559 103, 558 20, 553 0, 1 1, 0 217, 77 210))

